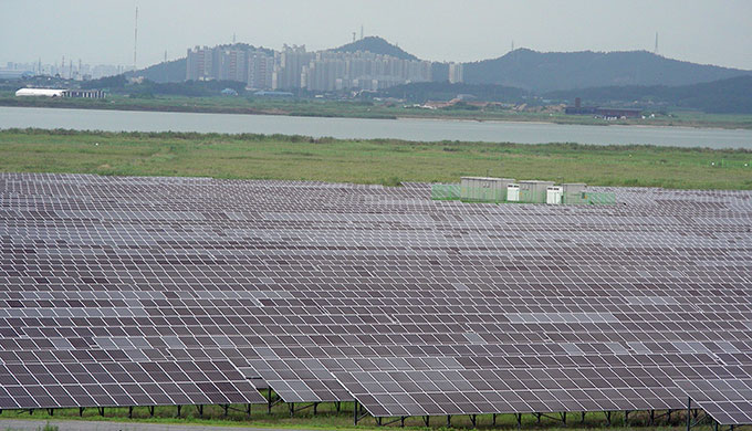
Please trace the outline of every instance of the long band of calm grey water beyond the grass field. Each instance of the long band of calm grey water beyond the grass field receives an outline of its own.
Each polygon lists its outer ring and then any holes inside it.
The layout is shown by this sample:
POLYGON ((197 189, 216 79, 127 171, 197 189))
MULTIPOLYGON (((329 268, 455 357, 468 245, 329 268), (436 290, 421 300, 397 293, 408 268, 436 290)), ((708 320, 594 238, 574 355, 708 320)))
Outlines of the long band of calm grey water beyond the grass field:
POLYGON ((742 129, 0 107, 0 128, 10 127, 108 132, 254 133, 332 136, 345 139, 648 144, 752 149, 752 130, 742 129))

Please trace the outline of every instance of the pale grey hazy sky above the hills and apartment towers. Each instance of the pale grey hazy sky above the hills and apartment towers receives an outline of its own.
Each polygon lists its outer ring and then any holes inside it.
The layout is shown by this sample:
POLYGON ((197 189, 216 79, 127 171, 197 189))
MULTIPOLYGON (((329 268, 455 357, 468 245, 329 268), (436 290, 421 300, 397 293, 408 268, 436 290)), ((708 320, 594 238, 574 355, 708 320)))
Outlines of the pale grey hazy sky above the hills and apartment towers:
POLYGON ((380 35, 426 60, 476 61, 537 51, 652 51, 752 70, 752 0, 0 0, 8 61, 133 64, 185 56, 197 44, 334 48, 380 35), (66 60, 67 62, 67 60, 66 60))

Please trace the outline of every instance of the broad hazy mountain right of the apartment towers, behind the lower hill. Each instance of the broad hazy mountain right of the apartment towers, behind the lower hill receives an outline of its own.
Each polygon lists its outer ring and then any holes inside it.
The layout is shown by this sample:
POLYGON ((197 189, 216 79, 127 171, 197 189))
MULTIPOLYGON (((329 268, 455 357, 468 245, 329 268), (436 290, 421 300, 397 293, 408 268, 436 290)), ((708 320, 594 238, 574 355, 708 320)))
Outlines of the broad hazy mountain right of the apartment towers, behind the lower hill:
POLYGON ((536 52, 514 50, 501 57, 464 63, 464 82, 533 92, 614 85, 690 85, 752 75, 752 71, 666 59, 647 51, 536 52))

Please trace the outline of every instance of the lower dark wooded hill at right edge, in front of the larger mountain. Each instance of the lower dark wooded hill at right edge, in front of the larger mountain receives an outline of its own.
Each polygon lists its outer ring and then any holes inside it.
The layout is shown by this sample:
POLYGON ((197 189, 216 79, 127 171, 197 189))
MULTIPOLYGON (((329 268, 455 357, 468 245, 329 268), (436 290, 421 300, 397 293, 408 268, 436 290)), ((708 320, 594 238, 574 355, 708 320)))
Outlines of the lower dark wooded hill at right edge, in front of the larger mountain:
POLYGON ((568 90, 546 93, 544 97, 568 103, 581 97, 584 105, 647 109, 670 106, 717 114, 752 114, 752 75, 675 87, 625 85, 568 90))

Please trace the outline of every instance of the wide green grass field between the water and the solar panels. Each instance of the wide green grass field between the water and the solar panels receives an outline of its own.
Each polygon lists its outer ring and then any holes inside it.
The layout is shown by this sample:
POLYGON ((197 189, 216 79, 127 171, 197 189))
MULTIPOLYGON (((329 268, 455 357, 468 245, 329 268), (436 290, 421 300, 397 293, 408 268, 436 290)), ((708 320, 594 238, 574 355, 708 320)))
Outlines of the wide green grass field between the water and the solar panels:
POLYGON ((752 189, 752 151, 181 133, 0 132, 0 170, 383 183, 461 176, 752 189))

